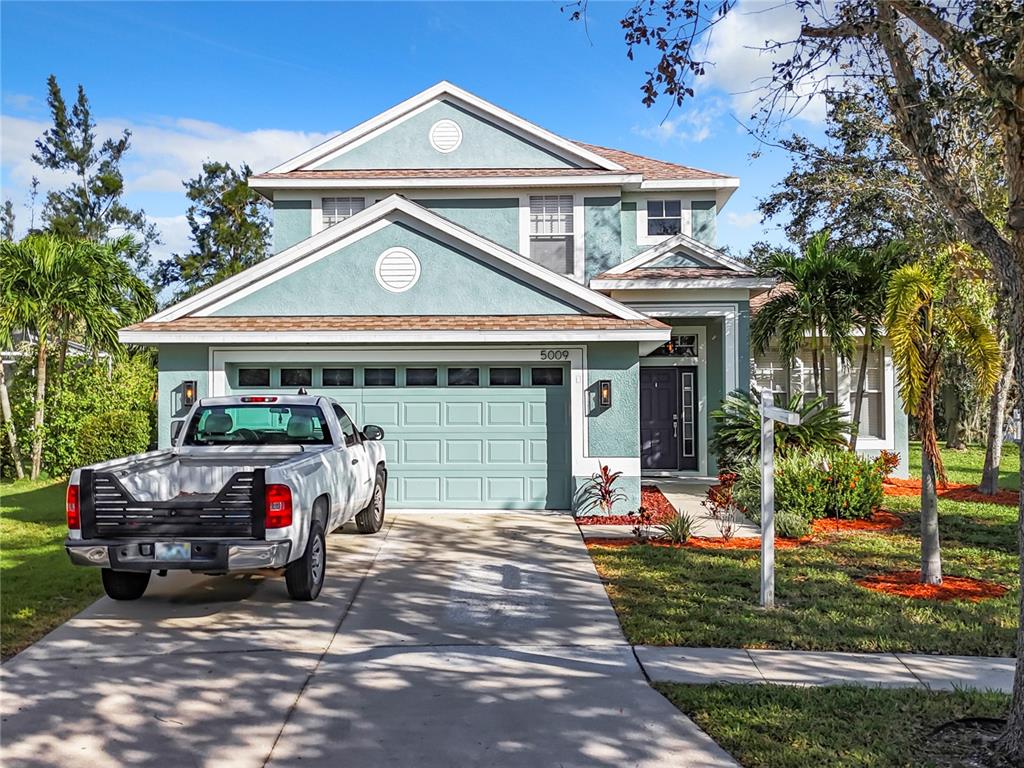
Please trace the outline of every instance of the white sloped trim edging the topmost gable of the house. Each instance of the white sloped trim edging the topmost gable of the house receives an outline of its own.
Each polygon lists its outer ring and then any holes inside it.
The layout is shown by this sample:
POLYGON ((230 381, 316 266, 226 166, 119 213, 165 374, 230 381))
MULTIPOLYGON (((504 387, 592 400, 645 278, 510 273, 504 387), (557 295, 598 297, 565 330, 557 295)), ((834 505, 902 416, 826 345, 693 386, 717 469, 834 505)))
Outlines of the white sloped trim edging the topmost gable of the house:
MULTIPOLYGON (((308 150, 301 155, 288 160, 272 168, 269 173, 288 173, 305 166, 325 162, 331 157, 342 154, 346 148, 350 148, 357 139, 366 140, 371 134, 377 134, 387 130, 402 118, 408 119, 409 113, 414 110, 423 109, 428 104, 441 101, 444 98, 459 102, 460 106, 467 109, 478 116, 486 117, 492 122, 503 124, 503 127, 510 129, 513 133, 521 136, 528 136, 529 139, 539 143, 545 148, 560 150, 562 155, 582 160, 597 168, 604 168, 609 171, 625 170, 617 163, 613 163, 607 158, 597 153, 586 150, 579 144, 562 138, 551 131, 541 128, 539 125, 513 115, 500 106, 476 96, 469 91, 463 90, 447 81, 430 86, 426 90, 420 91, 416 95, 407 98, 404 101, 395 104, 389 110, 385 110, 370 120, 351 128, 344 133, 338 134, 317 146, 308 150)), ((559 154, 559 153, 556 153, 559 154)))

